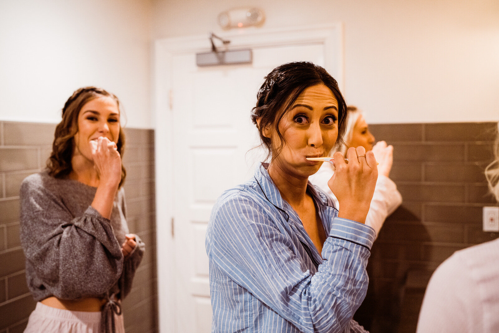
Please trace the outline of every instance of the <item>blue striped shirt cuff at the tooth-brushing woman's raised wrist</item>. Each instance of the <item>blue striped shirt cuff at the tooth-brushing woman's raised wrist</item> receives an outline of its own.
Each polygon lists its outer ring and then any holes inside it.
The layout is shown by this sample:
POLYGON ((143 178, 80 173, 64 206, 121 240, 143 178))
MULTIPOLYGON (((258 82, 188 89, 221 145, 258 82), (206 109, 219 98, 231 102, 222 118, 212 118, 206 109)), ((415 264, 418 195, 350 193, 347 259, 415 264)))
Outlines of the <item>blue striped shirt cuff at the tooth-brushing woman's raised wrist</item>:
POLYGON ((344 239, 365 246, 371 250, 376 232, 373 228, 366 226, 365 224, 341 217, 335 217, 329 236, 344 239))

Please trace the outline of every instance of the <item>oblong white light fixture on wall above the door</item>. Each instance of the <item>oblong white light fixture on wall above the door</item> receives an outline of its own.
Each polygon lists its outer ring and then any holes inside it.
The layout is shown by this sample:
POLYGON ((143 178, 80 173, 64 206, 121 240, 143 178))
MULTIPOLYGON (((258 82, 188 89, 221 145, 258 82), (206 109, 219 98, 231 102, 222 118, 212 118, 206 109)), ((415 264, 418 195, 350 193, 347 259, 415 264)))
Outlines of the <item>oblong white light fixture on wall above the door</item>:
POLYGON ((263 24, 265 15, 255 7, 233 8, 218 15, 219 25, 223 29, 244 28, 263 24))

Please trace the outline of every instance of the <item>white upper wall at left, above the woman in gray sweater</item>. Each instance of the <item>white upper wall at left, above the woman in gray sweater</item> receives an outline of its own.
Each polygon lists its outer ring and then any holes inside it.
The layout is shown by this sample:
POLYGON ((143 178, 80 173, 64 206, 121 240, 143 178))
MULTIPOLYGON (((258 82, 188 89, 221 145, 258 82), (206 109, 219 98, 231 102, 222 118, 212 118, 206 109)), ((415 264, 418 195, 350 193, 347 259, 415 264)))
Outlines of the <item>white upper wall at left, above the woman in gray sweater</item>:
POLYGON ((74 90, 120 99, 150 128, 150 0, 0 0, 0 120, 60 121, 74 90))

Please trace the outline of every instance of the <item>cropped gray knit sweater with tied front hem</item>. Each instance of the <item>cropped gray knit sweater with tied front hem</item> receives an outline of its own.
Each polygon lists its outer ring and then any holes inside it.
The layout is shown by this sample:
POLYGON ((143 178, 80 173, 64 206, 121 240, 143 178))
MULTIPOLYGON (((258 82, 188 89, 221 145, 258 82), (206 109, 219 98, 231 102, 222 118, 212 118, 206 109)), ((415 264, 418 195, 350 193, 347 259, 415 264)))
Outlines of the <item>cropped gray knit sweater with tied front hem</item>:
POLYGON ((91 206, 96 190, 46 171, 22 182, 20 238, 35 301, 113 294, 123 299, 130 292, 144 243, 137 236, 137 246, 123 260, 121 244, 128 233, 123 188, 116 194, 110 220, 91 206))

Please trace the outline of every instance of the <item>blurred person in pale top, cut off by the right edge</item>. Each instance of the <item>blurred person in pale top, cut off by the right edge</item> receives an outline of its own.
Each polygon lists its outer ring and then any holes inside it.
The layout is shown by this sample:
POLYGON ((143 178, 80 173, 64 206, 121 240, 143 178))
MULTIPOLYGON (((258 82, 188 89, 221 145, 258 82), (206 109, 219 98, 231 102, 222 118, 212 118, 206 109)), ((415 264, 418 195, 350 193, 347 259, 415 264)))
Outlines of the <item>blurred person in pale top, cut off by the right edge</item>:
MULTIPOLYGON (((499 125, 499 124, 498 124, 499 125)), ((499 135, 494 161, 485 169, 499 201, 499 135)), ((417 333, 499 332, 499 239, 456 251, 433 273, 417 333)))

